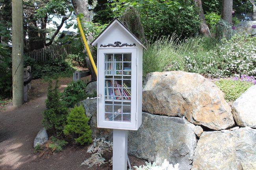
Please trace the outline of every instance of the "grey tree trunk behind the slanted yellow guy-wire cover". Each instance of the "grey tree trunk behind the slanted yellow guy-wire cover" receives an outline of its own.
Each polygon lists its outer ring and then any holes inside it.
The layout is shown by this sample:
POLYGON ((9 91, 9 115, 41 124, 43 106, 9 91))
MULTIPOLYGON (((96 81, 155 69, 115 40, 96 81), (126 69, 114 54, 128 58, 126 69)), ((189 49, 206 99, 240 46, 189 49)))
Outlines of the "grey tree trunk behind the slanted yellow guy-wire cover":
MULTIPOLYGON (((83 20, 81 21, 81 23, 83 22, 90 22, 90 14, 89 14, 89 10, 88 10, 88 0, 72 0, 72 4, 74 6, 74 10, 76 12, 76 15, 82 13, 83 14, 83 20)), ((91 43, 92 41, 92 37, 86 37, 88 45, 91 43)), ((82 38, 81 38, 82 40, 82 38)), ((91 48, 91 46, 89 45, 90 50, 92 51, 91 53, 93 54, 93 50, 91 48)), ((85 53, 86 49, 84 49, 84 53, 85 53)), ((94 61, 96 61, 96 57, 95 55, 93 55, 93 59, 94 61)), ((87 64, 87 67, 89 69, 89 71, 91 72, 91 81, 96 81, 97 77, 96 74, 93 70, 93 66, 91 64, 91 61, 88 57, 88 55, 85 55, 85 61, 87 64)), ((95 62, 96 63, 96 62, 95 62)))

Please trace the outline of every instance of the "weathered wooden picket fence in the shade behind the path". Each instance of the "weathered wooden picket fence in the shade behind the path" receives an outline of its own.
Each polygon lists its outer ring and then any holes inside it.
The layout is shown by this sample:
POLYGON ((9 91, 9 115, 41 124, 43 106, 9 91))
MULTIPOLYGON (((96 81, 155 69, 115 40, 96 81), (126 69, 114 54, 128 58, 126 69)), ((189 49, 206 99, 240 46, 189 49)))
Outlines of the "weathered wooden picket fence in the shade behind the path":
POLYGON ((70 44, 62 46, 47 46, 45 48, 25 53, 25 55, 34 58, 37 62, 45 62, 48 58, 58 58, 63 54, 70 54, 70 44))

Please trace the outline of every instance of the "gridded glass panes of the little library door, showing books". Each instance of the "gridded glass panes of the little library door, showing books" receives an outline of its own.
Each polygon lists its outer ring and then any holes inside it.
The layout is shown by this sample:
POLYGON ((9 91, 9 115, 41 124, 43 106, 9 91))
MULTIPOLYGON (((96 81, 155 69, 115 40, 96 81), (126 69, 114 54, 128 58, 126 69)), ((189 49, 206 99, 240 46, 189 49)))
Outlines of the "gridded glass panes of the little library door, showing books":
POLYGON ((132 53, 105 54, 105 121, 131 121, 132 53))

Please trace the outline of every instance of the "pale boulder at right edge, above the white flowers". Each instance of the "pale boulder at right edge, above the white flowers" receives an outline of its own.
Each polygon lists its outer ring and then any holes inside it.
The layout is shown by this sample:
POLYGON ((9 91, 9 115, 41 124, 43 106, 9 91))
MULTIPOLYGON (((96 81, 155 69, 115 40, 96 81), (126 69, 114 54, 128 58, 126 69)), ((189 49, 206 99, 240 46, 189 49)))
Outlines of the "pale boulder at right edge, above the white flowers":
POLYGON ((253 37, 256 37, 256 29, 252 28, 253 25, 256 25, 256 21, 239 22, 239 24, 236 25, 236 32, 243 33, 245 31, 248 35, 254 35, 253 37))

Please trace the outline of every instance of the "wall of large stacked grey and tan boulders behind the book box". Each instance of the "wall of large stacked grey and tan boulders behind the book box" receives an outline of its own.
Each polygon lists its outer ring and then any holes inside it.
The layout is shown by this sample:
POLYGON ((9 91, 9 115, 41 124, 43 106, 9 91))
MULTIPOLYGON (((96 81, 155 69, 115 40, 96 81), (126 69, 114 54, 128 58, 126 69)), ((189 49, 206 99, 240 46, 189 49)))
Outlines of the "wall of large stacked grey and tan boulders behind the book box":
MULTIPOLYGON (((197 73, 149 73, 142 125, 128 133, 128 154, 157 164, 167 159, 180 170, 256 170, 255 100, 256 85, 229 106, 197 73)), ((82 103, 93 138, 113 140, 112 130, 97 128, 96 99, 82 103)))

